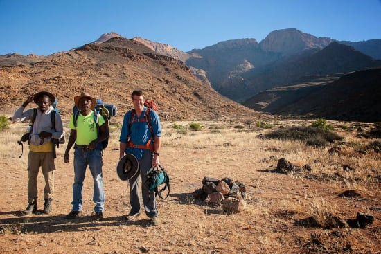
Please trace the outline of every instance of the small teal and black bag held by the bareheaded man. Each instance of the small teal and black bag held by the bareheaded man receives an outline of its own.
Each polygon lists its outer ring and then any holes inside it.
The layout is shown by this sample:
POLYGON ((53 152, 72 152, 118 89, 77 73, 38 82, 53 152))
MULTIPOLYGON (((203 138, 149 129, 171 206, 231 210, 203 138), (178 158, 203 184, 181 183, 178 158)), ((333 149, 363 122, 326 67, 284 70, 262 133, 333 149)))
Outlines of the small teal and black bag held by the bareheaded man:
POLYGON ((154 192, 155 196, 159 195, 161 199, 166 199, 169 195, 170 192, 170 184, 169 184, 169 176, 168 172, 166 172, 161 165, 159 167, 152 167, 148 172, 147 172, 147 180, 145 183, 148 185, 148 189, 150 192, 154 192), (160 168, 159 168, 160 167, 160 168), (163 185, 164 187, 159 190, 159 186, 163 185), (163 190, 166 190, 168 188, 168 193, 166 197, 162 197, 161 192, 163 190))

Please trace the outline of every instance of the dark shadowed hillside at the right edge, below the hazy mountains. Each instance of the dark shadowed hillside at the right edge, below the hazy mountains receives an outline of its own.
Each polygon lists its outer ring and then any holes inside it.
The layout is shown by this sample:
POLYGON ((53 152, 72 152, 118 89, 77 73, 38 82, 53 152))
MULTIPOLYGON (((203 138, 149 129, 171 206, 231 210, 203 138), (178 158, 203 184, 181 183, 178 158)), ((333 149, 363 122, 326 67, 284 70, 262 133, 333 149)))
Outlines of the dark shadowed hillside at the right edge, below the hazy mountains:
POLYGON ((271 114, 377 122, 381 116, 381 68, 258 93, 245 105, 271 114), (334 80, 334 81, 332 81, 334 80))

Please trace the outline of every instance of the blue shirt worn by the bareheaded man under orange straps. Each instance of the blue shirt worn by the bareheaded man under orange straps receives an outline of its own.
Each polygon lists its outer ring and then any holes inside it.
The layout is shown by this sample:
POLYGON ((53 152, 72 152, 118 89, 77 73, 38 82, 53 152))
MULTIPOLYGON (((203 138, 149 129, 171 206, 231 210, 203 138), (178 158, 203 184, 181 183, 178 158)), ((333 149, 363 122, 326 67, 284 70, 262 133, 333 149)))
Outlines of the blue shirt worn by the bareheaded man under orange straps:
MULTIPOLYGON (((123 117, 123 125, 121 130, 121 136, 119 138, 119 142, 128 143, 128 137, 130 136, 132 143, 134 145, 145 145, 148 140, 151 138, 151 143, 154 142, 155 136, 161 136, 161 125, 159 115, 156 111, 150 111, 151 125, 153 130, 153 136, 150 131, 150 127, 148 126, 148 122, 139 122, 139 119, 145 118, 145 111, 147 111, 147 107, 144 106, 143 111, 141 112, 140 118, 136 114, 134 114, 135 121, 132 122, 131 128, 130 120, 131 120, 131 112, 128 111, 123 117)), ((126 154, 134 154, 138 160, 140 160, 143 156, 144 149, 127 147, 125 149, 126 154)))

